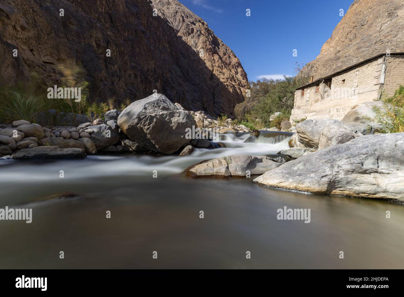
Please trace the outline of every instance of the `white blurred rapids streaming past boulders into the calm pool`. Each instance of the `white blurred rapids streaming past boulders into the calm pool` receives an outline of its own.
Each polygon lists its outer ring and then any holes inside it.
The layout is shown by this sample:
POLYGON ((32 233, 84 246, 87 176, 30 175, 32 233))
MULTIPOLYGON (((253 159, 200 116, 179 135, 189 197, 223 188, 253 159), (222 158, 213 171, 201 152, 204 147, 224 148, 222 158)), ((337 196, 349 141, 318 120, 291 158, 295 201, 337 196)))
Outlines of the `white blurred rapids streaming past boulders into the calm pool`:
POLYGON ((244 142, 250 133, 219 134, 213 143, 221 142, 226 147, 214 149, 195 148, 189 156, 154 156, 147 154, 88 155, 84 160, 63 160, 57 162, 19 162, 0 158, 0 180, 12 183, 16 179, 25 181, 46 181, 53 179, 55 172, 74 172, 72 179, 97 176, 149 176, 153 171, 160 175, 181 173, 187 167, 214 158, 230 155, 267 156, 287 149, 292 133, 261 132, 255 142, 244 142))

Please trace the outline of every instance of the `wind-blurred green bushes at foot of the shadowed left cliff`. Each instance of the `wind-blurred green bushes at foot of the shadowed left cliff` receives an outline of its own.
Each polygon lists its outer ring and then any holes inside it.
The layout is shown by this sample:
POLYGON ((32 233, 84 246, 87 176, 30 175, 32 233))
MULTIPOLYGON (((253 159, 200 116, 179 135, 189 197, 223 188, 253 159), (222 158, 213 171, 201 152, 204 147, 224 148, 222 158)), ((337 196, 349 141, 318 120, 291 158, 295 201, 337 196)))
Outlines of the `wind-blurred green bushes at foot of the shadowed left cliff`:
MULTIPOLYGON (((16 86, 0 86, 0 123, 9 124, 15 120, 28 120, 36 122, 40 115, 42 122, 38 124, 50 126, 77 125, 78 121, 61 116, 61 113, 73 113, 86 115, 91 120, 103 117, 103 114, 114 108, 109 103, 90 103, 88 82, 84 80, 84 71, 79 66, 59 66, 63 73, 60 86, 80 87, 81 100, 76 102, 74 99, 48 99, 47 88, 43 82, 40 83, 35 75, 30 77, 30 82, 19 83, 16 86), (41 87, 42 85, 42 87, 41 87), (56 112, 49 112, 55 110, 56 112)), ((48 83, 53 85, 53 83, 48 83)), ((122 111, 125 108, 121 104, 117 109, 122 111)))

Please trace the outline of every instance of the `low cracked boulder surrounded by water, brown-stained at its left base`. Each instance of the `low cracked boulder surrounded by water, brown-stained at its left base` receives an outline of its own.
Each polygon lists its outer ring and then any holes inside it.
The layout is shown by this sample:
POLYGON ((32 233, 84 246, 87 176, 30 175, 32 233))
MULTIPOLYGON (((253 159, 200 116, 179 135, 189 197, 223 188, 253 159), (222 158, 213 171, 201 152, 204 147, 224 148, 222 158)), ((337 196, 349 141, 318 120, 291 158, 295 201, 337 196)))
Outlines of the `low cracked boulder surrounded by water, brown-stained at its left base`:
POLYGON ((281 164, 274 162, 269 157, 255 157, 248 155, 235 155, 224 158, 216 158, 202 162, 187 169, 189 177, 198 176, 246 176, 247 170, 250 174, 262 174, 268 170, 279 167, 281 164))

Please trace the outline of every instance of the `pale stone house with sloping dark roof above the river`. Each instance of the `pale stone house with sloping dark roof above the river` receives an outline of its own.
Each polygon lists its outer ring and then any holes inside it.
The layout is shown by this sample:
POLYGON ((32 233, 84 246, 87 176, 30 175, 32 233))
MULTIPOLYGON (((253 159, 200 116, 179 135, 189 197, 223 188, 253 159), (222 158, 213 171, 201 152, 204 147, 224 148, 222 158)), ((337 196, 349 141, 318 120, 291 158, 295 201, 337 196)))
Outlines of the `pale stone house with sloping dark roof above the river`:
POLYGON ((390 97, 400 84, 404 86, 404 53, 372 57, 297 88, 290 121, 341 120, 353 105, 390 97))

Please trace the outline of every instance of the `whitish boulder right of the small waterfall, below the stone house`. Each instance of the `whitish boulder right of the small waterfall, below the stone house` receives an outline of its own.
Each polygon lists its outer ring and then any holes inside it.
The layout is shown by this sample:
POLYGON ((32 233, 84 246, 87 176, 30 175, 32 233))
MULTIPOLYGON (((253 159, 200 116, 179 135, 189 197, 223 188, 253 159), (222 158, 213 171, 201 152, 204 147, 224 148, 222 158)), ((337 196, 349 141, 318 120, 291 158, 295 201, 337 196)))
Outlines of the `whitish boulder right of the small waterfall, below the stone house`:
POLYGON ((297 141, 305 147, 314 149, 319 148, 320 139, 322 141, 321 148, 324 148, 349 141, 358 136, 343 122, 330 118, 305 120, 296 125, 296 131, 299 135, 297 141), (335 135, 332 133, 333 130, 337 132, 335 135))

